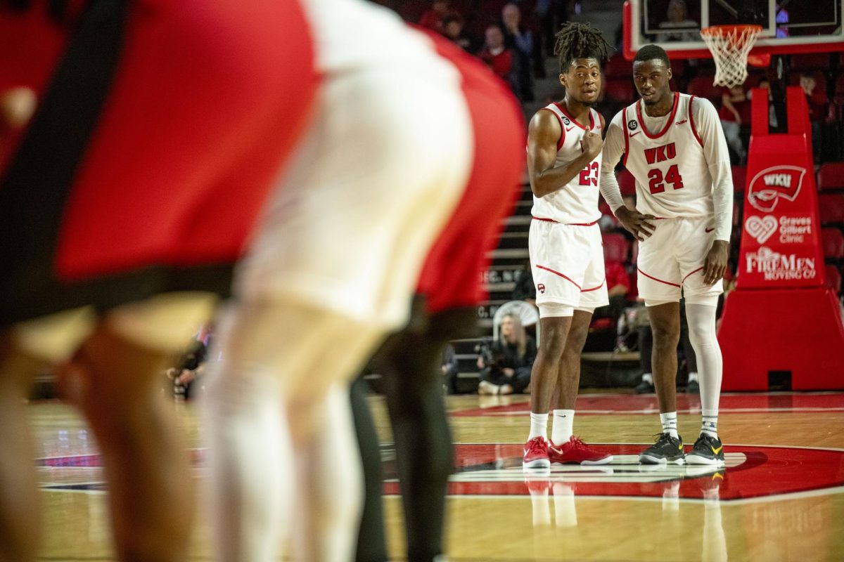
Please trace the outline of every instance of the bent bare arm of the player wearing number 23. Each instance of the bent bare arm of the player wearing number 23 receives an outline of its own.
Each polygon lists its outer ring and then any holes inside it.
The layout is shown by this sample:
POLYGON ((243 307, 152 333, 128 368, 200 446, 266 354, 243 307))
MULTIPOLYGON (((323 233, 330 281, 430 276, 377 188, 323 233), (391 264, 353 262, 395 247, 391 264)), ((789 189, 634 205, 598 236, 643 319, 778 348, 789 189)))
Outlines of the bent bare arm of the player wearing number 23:
POLYGON ((561 134, 560 121, 556 115, 545 110, 537 111, 527 128, 527 174, 533 195, 537 197, 565 187, 601 151, 601 137, 587 132, 583 137, 587 150, 570 163, 555 167, 557 142, 561 134))

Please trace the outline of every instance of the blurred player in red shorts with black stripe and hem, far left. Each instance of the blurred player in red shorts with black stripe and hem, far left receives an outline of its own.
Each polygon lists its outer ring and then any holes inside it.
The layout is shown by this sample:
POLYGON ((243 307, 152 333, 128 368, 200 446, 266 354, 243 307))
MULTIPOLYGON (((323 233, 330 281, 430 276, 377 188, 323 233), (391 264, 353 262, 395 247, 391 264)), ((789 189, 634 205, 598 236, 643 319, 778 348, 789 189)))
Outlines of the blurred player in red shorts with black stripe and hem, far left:
POLYGON ((307 29, 298 3, 0 3, 0 559, 38 549, 22 399, 62 362, 117 557, 186 556, 192 477, 157 377, 230 286, 305 125, 307 29))

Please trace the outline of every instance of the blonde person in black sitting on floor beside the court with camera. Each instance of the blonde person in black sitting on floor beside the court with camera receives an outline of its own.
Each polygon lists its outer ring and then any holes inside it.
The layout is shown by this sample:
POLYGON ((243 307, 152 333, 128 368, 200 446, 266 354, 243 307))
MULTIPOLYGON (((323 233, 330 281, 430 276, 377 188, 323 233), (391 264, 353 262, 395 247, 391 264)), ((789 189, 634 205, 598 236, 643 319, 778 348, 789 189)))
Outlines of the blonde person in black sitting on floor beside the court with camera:
POLYGON ((479 394, 524 392, 530 384, 530 372, 536 359, 536 342, 527 335, 519 318, 505 314, 498 330, 498 340, 478 356, 479 394))

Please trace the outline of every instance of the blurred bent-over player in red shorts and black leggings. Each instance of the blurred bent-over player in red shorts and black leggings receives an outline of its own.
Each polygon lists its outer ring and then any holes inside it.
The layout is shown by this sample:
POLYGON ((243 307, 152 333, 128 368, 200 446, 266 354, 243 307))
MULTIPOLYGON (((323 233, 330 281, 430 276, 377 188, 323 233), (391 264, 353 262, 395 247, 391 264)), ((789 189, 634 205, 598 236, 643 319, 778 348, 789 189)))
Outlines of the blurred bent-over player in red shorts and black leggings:
MULTIPOLYGON (((506 84, 472 56, 440 37, 437 52, 460 71, 472 117, 474 160, 463 196, 425 260, 419 299, 407 328, 376 356, 383 376, 398 456, 408 560, 442 554, 446 484, 453 468, 451 431, 442 399, 440 359, 449 340, 477 332, 486 254, 511 211, 522 173, 524 123, 506 84)), ((353 386, 355 422, 366 476, 358 562, 383 562, 381 455, 360 379, 353 386)))

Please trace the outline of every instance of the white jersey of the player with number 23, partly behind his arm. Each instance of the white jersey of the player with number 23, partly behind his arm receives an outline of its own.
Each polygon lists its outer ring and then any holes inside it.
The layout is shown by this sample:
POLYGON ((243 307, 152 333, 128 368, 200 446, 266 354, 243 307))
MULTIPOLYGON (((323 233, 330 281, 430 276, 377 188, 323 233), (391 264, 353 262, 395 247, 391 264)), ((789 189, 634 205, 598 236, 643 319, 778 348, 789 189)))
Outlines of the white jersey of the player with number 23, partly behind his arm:
MULTIPOLYGON (((587 128, 578 123, 559 104, 548 104, 549 110, 560 120, 562 135, 557 142, 557 159, 554 166, 565 166, 581 155, 581 139, 587 128)), ((601 134, 601 117, 589 110, 589 131, 601 134)), ((598 175, 601 173, 601 153, 577 174, 565 187, 544 197, 533 196, 533 217, 550 219, 565 224, 588 224, 601 217, 598 211, 598 175)))

